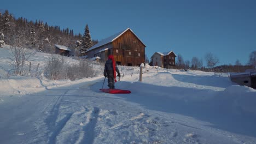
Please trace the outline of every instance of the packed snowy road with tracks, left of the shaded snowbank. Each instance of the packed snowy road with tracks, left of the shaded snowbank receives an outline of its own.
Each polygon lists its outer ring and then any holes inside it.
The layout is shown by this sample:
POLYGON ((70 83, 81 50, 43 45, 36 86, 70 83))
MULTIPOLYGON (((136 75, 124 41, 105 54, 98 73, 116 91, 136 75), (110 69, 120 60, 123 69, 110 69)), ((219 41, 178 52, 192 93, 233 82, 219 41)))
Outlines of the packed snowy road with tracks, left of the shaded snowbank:
MULTIPOLYGON (((0 105, 1 143, 256 141, 254 137, 232 134, 211 127, 211 123, 176 114, 177 109, 172 110, 175 113, 161 111, 161 105, 153 103, 154 106, 147 107, 141 102, 151 103, 142 97, 143 93, 115 95, 96 91, 101 85, 102 79, 98 79, 10 98, 0 105), (136 97, 141 99, 135 100, 136 97)), ((167 105, 170 104, 162 103, 163 107, 167 105)))

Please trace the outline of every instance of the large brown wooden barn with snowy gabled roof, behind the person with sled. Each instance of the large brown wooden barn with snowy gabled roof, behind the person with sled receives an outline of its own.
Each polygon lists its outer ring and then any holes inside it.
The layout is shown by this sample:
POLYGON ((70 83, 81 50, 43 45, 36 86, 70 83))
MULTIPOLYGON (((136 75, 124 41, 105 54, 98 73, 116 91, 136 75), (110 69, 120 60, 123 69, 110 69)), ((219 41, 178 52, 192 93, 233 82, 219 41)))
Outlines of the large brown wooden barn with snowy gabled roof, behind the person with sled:
POLYGON ((100 57, 101 62, 106 62, 109 55, 113 55, 118 65, 139 66, 145 62, 146 45, 137 35, 127 28, 106 39, 86 51, 88 58, 100 57))

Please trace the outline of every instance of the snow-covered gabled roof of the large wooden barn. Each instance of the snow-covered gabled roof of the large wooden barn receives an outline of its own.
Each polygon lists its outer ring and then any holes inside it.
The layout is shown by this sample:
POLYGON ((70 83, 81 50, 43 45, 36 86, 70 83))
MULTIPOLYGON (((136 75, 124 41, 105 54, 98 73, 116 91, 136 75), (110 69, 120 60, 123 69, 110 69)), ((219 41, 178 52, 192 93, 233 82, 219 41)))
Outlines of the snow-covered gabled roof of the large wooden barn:
MULTIPOLYGON (((108 38, 106 38, 106 39, 103 39, 103 40, 99 41, 96 45, 90 47, 90 49, 88 49, 86 52, 91 51, 91 50, 93 50, 93 49, 95 49, 95 48, 97 48, 97 47, 100 47, 100 46, 102 46, 102 45, 106 45, 106 44, 108 44, 108 43, 112 43, 115 39, 119 38, 122 34, 124 34, 124 33, 125 33, 126 31, 128 31, 128 30, 130 30, 130 31, 137 37, 137 35, 136 35, 130 28, 127 28, 127 29, 125 29, 125 31, 121 31, 121 32, 119 32, 119 33, 117 33, 117 34, 114 34, 114 35, 112 35, 112 36, 110 36, 110 37, 108 37, 108 38)), ((138 38, 138 37, 137 37, 137 38, 138 38)), ((139 39, 139 38, 138 38, 138 39, 139 39)), ((141 39, 139 39, 139 40, 141 41, 141 39)), ((143 45, 145 45, 142 41, 141 41, 141 43, 142 43, 143 45)), ((146 45, 145 45, 145 46, 146 46, 146 45)))

